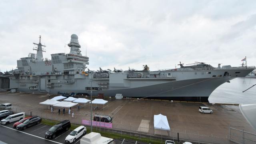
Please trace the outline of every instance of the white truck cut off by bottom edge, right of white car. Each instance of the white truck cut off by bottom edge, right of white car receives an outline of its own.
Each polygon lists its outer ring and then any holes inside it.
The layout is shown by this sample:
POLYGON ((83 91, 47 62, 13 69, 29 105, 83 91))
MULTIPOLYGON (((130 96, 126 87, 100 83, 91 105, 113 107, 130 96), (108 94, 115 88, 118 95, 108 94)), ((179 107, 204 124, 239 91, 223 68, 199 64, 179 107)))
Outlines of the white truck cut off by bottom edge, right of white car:
POLYGON ((80 144, 116 144, 114 139, 101 136, 100 133, 91 132, 80 139, 80 144))

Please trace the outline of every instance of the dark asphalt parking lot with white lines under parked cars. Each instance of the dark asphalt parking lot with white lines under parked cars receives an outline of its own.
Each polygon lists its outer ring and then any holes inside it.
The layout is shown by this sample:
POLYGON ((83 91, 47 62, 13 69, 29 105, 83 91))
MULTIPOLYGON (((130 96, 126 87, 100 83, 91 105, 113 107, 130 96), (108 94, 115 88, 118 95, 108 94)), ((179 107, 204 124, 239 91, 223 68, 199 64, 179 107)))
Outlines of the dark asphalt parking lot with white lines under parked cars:
MULTIPOLYGON (((25 130, 16 130, 13 128, 14 122, 6 125, 0 125, 0 140, 10 143, 19 144, 64 144, 64 140, 72 130, 68 130, 53 139, 46 139, 44 134, 51 126, 44 125, 42 123, 29 127, 25 130)), ((74 144, 80 144, 82 136, 74 142, 74 144)), ((117 139, 116 144, 146 144, 134 140, 117 139)))

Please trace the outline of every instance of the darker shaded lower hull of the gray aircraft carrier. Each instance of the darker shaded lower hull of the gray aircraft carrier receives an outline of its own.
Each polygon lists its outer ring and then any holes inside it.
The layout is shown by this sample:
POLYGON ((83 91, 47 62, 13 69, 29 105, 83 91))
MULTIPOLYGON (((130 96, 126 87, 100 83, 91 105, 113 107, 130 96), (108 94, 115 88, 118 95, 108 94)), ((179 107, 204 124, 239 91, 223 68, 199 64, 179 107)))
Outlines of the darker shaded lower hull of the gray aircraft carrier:
MULTIPOLYGON (((92 90, 92 95, 96 96, 98 93, 103 93, 104 96, 114 97, 117 93, 120 93, 124 97, 208 102, 208 97, 218 86, 232 79, 231 77, 200 78, 167 82, 139 88, 101 91, 92 90)), ((37 92, 36 90, 28 90, 27 88, 18 88, 18 91, 37 92)), ((50 90, 49 93, 57 94, 59 91, 90 94, 90 90, 74 90, 68 88, 65 90, 50 90)))

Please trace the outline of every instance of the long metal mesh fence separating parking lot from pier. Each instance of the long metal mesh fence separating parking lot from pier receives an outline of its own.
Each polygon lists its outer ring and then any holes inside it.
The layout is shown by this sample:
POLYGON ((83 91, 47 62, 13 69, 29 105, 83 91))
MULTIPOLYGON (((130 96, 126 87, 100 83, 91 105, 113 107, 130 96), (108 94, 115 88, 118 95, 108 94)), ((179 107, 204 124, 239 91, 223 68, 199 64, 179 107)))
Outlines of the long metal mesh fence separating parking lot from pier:
MULTIPOLYGON (((57 120, 62 121, 69 119, 70 122, 74 124, 82 124, 82 119, 85 118, 72 118, 68 113, 65 114, 58 112, 51 113, 50 111, 37 111, 37 110, 24 110, 20 107, 14 107, 13 112, 25 112, 26 115, 31 116, 40 116, 42 118, 46 118, 49 120, 57 120)), ((54 111, 57 111, 54 110, 54 111)), ((89 126, 88 126, 89 127, 89 126)), ((121 137, 130 137, 135 138, 137 140, 141 140, 143 138, 149 138, 152 140, 160 140, 164 143, 165 140, 180 140, 180 141, 190 141, 193 144, 256 144, 256 134, 252 134, 249 132, 244 132, 243 130, 238 130, 235 128, 229 127, 229 137, 218 137, 218 136, 207 136, 194 134, 189 132, 180 132, 178 128, 171 128, 170 131, 157 130, 154 127, 148 125, 147 126, 133 126, 131 124, 124 124, 122 122, 116 122, 113 120, 113 128, 102 128, 100 126, 93 126, 93 129, 97 132, 112 132, 118 134, 121 137)))

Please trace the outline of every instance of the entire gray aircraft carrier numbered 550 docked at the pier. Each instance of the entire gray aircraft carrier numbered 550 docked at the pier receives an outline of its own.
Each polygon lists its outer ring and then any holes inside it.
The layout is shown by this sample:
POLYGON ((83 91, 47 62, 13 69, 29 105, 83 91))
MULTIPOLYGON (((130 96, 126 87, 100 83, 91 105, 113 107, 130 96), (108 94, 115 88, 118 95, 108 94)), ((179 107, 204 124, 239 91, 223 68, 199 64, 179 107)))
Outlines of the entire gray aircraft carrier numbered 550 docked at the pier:
POLYGON ((99 93, 114 97, 160 98, 208 102, 210 94, 221 84, 237 77, 244 77, 255 67, 240 66, 212 67, 204 62, 180 68, 150 71, 143 70, 100 70, 87 69, 89 58, 83 56, 76 34, 71 35, 68 46, 70 53, 51 54, 43 57, 44 45, 34 43, 36 54, 17 60, 17 69, 0 73, 0 88, 16 89, 20 92, 50 93, 74 92, 99 93))

